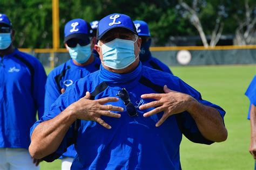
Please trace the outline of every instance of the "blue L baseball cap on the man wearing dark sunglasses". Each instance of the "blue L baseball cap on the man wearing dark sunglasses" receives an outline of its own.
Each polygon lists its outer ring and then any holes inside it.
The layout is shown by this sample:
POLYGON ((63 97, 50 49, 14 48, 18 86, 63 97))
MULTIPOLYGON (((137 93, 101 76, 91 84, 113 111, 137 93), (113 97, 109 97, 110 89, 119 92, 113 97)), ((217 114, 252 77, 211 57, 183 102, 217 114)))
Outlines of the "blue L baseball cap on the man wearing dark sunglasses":
POLYGON ((87 39, 91 34, 91 25, 84 19, 72 19, 65 25, 64 42, 71 38, 87 39))

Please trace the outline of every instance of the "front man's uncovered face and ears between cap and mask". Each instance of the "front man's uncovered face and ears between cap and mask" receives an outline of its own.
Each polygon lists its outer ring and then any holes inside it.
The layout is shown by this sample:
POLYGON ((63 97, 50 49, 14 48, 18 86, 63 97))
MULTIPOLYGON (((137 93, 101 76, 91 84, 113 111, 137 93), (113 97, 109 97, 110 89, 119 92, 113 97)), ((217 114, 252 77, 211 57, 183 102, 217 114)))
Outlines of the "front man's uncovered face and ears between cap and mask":
MULTIPOLYGON (((103 44, 106 44, 107 42, 110 42, 116 38, 136 41, 136 37, 134 36, 134 34, 131 31, 124 29, 124 28, 116 28, 116 29, 112 29, 109 32, 107 32, 99 40, 99 45, 102 46, 103 44)), ((136 42, 134 42, 135 58, 139 55, 141 42, 142 42, 142 40, 140 38, 138 38, 138 40, 136 42)), ((100 46, 95 45, 95 48, 96 48, 96 51, 100 55, 100 59, 103 60, 102 48, 100 48, 100 46)))

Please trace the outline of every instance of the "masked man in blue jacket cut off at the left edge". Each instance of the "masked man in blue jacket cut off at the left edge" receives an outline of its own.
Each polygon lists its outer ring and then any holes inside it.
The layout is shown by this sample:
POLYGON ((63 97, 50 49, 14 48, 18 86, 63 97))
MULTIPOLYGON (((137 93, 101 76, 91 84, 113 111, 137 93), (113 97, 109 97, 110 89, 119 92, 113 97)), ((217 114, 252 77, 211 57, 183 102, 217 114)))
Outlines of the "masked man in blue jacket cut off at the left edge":
POLYGON ((0 169, 39 169, 28 151, 29 131, 37 111, 43 116, 46 74, 35 57, 13 46, 14 36, 0 13, 0 169))

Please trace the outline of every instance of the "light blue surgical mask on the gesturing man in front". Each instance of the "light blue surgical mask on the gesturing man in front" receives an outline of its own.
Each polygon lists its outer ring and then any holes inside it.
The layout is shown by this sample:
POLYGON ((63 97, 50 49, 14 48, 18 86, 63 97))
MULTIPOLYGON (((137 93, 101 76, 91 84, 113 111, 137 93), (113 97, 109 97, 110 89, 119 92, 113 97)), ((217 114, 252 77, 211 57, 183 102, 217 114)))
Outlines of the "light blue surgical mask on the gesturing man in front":
MULTIPOLYGON (((138 38, 137 38, 138 39, 138 38)), ((130 66, 137 58, 134 54, 134 42, 137 41, 114 39, 103 44, 103 64, 113 69, 123 69, 130 66)))

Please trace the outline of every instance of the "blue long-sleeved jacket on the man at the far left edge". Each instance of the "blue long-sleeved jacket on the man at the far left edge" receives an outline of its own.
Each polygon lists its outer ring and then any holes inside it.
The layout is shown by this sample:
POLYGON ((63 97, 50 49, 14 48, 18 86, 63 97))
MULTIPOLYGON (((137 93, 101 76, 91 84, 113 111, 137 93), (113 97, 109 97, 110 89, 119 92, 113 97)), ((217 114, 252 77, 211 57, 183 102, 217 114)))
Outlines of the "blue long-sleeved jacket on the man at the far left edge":
POLYGON ((0 57, 0 147, 28 148, 29 131, 44 112, 46 74, 33 56, 15 49, 0 57))

